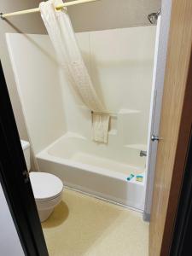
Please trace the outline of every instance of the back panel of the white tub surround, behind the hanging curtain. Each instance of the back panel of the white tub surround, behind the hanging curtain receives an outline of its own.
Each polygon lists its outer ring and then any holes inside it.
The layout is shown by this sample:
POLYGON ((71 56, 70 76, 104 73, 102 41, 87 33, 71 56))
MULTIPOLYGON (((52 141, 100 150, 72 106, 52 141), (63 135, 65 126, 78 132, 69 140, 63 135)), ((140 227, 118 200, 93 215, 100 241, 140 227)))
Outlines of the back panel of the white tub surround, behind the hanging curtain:
MULTIPOLYGON (((146 149, 155 31, 155 26, 143 26, 76 34, 97 92, 109 112, 117 113, 109 143, 146 149)), ((91 139, 90 111, 74 98, 61 73, 67 130, 91 139)))

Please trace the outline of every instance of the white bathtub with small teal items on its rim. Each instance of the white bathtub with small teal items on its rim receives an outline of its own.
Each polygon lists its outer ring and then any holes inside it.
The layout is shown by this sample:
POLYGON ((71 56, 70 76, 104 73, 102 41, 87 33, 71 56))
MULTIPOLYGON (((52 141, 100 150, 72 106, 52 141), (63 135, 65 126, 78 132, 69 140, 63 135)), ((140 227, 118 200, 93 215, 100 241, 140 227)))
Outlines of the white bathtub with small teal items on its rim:
POLYGON ((106 145, 67 134, 37 154, 38 167, 61 177, 67 187, 143 211, 144 180, 139 183, 132 178, 128 182, 126 178, 144 170, 129 166, 129 149, 119 147, 109 150, 106 145))

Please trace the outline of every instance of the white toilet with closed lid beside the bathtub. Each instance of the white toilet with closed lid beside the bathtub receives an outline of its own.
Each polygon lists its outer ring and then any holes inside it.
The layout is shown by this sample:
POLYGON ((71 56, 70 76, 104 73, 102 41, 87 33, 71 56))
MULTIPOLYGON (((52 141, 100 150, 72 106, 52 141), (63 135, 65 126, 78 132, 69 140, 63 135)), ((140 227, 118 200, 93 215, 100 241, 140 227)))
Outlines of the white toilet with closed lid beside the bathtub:
MULTIPOLYGON (((31 169, 30 143, 21 140, 28 172, 31 169)), ((32 191, 38 208, 41 222, 44 222, 54 208, 61 202, 63 183, 59 177, 47 172, 30 172, 32 191)))

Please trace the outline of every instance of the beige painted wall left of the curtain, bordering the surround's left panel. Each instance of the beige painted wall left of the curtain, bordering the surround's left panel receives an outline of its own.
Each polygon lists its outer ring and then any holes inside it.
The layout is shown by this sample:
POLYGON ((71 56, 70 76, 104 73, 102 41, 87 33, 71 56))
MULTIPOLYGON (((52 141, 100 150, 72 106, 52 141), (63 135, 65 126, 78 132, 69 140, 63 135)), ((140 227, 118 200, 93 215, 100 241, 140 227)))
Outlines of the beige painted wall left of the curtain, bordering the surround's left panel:
MULTIPOLYGON (((9 13, 20 9, 30 9, 38 6, 38 0, 1 0, 0 12, 9 13)), ((15 113, 15 119, 20 137, 28 140, 26 125, 21 111, 20 99, 16 90, 15 77, 9 61, 9 53, 5 40, 6 32, 20 33, 45 33, 44 24, 39 14, 22 15, 9 18, 9 20, 0 20, 0 59, 3 65, 3 72, 9 89, 9 96, 15 113)), ((32 162, 32 166, 34 164, 32 162)))

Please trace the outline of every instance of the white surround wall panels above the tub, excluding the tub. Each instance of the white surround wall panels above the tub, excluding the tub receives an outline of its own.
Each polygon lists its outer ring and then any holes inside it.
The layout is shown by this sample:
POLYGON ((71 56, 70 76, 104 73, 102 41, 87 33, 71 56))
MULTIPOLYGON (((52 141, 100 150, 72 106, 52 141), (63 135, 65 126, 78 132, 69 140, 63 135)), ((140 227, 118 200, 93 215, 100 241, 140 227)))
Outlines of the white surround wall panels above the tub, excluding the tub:
MULTIPOLYGON (((116 113, 108 147, 120 146, 130 165, 143 168, 139 152, 147 148, 155 31, 143 26, 76 34, 99 96, 116 113)), ((90 111, 55 63, 49 37, 9 34, 7 41, 35 153, 66 131, 92 140, 90 111)))

